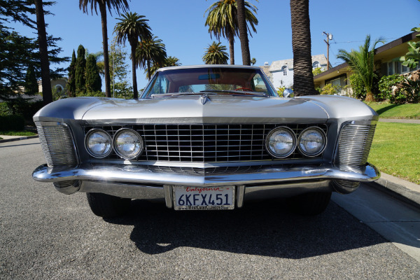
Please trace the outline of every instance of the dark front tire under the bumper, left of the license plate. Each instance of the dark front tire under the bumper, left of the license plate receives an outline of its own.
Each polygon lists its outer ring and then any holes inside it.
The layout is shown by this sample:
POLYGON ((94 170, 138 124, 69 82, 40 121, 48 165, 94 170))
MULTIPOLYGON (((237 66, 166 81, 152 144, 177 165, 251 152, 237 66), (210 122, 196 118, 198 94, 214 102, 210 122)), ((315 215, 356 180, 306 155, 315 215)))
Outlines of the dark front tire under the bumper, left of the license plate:
POLYGON ((114 197, 104 193, 86 193, 93 214, 102 218, 123 216, 130 209, 130 198, 114 197))

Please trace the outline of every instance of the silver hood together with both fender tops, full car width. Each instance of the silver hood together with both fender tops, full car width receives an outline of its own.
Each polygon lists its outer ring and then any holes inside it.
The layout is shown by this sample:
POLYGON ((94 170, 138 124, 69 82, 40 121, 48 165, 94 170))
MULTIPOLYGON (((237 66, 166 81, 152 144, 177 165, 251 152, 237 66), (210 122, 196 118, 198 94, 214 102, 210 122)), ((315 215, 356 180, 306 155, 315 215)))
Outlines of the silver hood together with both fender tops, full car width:
MULTIPOLYGON (((373 113, 372 113, 373 112, 373 113)), ((369 106, 342 97, 248 97, 188 95, 154 99, 76 97, 43 107, 43 120, 87 123, 325 123, 329 118, 372 118, 369 106), (340 109, 341 108, 341 109, 340 109), (340 111, 341 110, 341 111, 340 111)))

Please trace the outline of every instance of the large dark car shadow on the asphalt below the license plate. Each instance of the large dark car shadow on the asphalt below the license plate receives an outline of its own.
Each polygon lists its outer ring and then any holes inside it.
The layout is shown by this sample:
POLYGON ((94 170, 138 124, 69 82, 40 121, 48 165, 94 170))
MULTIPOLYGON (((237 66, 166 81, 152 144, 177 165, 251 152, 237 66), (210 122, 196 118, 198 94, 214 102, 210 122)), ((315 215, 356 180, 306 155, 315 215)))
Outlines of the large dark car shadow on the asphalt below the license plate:
POLYGON ((272 200, 232 211, 174 211, 134 200, 129 216, 106 221, 134 225, 130 238, 148 254, 188 246, 300 259, 386 242, 333 202, 316 217, 291 214, 282 205, 272 200))

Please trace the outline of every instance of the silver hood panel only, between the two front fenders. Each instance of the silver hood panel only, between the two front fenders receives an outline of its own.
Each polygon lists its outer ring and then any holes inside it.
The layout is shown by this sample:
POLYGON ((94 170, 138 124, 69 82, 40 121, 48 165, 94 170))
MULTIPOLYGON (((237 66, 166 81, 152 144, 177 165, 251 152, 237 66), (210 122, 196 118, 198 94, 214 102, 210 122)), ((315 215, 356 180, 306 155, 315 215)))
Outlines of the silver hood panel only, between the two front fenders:
POLYGON ((89 109, 83 120, 130 123, 283 123, 302 118, 324 123, 327 113, 312 102, 228 95, 109 100, 89 109))

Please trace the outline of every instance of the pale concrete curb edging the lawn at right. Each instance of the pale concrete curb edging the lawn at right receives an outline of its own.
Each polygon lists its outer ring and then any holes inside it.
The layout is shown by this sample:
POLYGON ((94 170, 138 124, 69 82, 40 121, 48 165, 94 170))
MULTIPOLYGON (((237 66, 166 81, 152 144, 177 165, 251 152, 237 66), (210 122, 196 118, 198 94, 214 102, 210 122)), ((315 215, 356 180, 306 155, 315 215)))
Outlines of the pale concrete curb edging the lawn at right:
POLYGON ((420 185, 381 172, 372 186, 420 209, 420 185))

